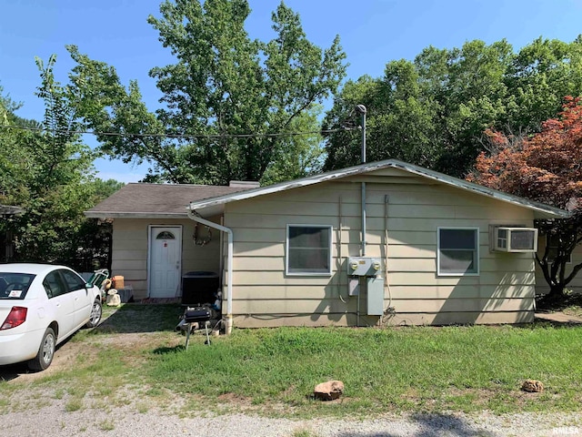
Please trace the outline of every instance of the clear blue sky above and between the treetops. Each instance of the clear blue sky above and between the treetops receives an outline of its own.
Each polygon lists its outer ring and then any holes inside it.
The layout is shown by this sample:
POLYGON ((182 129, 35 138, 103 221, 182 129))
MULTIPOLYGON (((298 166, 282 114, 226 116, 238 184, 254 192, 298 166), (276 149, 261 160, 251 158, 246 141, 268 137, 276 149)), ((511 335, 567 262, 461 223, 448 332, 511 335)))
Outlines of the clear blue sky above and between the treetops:
MULTIPOLYGON (((126 85, 136 79, 147 106, 160 97, 147 76, 153 66, 172 62, 147 24, 159 15, 160 0, 11 0, 3 2, 0 25, 0 86, 22 102, 20 117, 42 119, 35 97, 39 85, 35 56, 57 55, 56 76, 66 81, 73 63, 65 45, 115 66, 126 85)), ((249 0, 246 22, 251 37, 273 36, 271 12, 277 0, 249 0)), ((570 42, 582 34, 582 0, 286 0, 301 16, 307 37, 329 46, 339 35, 346 51, 347 77, 382 76, 386 63, 414 59, 426 46, 452 48, 481 39, 487 44, 506 38, 517 51, 542 36, 570 42)), ((94 145, 90 138, 89 144, 94 145)), ((137 181, 146 167, 120 161, 95 162, 100 178, 137 181)))

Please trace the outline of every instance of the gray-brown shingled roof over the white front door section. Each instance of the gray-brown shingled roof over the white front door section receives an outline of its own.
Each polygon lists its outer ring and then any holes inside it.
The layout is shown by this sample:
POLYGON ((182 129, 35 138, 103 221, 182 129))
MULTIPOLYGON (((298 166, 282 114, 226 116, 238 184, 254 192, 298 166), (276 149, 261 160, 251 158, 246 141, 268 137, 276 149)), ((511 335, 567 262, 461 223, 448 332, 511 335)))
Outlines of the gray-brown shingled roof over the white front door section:
POLYGON ((98 219, 126 218, 186 218, 186 207, 194 200, 216 198, 249 187, 218 187, 212 185, 175 185, 131 183, 115 191, 85 216, 98 219))

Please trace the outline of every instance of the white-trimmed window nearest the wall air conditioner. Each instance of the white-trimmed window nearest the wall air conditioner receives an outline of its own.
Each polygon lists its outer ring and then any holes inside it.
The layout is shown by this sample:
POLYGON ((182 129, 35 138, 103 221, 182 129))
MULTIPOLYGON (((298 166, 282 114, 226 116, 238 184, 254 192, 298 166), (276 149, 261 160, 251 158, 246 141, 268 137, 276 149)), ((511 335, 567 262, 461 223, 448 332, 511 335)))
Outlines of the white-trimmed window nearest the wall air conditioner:
POLYGON ((437 240, 438 275, 479 274, 478 228, 438 228, 437 240))

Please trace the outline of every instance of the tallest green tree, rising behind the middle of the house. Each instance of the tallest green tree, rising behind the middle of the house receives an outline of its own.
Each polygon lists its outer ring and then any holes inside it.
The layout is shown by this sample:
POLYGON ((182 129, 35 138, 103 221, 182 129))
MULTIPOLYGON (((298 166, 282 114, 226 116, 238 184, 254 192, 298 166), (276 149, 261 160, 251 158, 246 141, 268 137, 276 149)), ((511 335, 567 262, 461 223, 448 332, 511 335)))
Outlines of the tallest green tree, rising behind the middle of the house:
POLYGON ((309 111, 345 76, 338 37, 325 50, 315 46, 283 2, 272 15, 276 36, 266 43, 246 33, 246 0, 166 0, 160 12, 148 21, 176 64, 150 71, 164 93, 155 113, 135 82, 123 86, 114 67, 69 47, 78 114, 95 132, 120 134, 97 134, 102 150, 150 163, 147 180, 227 184, 296 176, 301 163, 287 173, 281 160, 317 155, 320 146, 285 134, 313 128, 309 111))

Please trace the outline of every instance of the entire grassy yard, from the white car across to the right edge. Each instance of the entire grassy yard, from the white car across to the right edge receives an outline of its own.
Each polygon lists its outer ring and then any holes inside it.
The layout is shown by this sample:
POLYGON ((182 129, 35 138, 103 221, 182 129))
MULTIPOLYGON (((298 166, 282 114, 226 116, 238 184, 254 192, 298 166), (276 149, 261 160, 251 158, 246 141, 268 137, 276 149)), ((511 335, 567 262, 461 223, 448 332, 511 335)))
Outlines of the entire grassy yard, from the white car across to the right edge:
POLYGON ((570 412, 582 401, 578 326, 234 330, 210 346, 198 332, 186 351, 185 337, 174 330, 181 311, 177 305, 106 309, 110 317, 99 328, 79 332, 57 351, 72 355, 65 365, 33 380, 0 381, 0 406, 18 410, 36 389, 67 396, 71 410, 134 402, 146 412, 179 398, 186 401, 182 413, 294 416, 570 412), (346 386, 339 401, 311 399, 317 383, 332 379, 346 386), (520 391, 526 379, 542 381, 546 390, 520 391))

